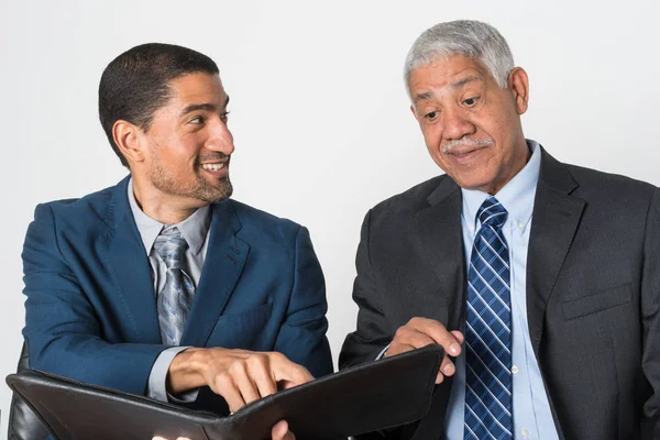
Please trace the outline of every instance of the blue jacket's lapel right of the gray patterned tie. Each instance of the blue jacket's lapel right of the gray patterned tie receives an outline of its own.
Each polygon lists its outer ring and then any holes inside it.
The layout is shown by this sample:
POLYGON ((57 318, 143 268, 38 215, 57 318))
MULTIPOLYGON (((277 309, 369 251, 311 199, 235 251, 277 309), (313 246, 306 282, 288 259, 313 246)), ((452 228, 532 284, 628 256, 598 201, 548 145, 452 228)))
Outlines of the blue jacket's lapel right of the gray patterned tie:
POLYGON ((212 205, 211 208, 207 254, 182 345, 206 345, 239 280, 250 251, 250 245, 235 237, 241 222, 232 201, 212 205))

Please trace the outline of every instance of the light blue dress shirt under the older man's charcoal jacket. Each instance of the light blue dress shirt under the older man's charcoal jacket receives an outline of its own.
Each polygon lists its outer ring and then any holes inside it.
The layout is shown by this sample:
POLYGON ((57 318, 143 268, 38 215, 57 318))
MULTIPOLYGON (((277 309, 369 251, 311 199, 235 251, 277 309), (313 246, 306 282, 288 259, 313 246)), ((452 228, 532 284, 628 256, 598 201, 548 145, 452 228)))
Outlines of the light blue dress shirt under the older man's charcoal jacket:
MULTIPOLYGON (((522 440, 558 439, 550 404, 539 365, 531 348, 527 323, 527 250, 531 230, 531 212, 539 180, 541 151, 535 141, 527 141, 532 152, 527 165, 495 195, 508 211, 502 231, 512 262, 512 376, 514 392, 514 438, 522 440)), ((474 235, 481 228, 476 212, 488 198, 479 190, 461 189, 463 208, 461 226, 465 261, 470 261, 474 235)), ((446 433, 450 440, 463 439, 465 413, 465 355, 455 360, 457 372, 449 400, 446 433)))

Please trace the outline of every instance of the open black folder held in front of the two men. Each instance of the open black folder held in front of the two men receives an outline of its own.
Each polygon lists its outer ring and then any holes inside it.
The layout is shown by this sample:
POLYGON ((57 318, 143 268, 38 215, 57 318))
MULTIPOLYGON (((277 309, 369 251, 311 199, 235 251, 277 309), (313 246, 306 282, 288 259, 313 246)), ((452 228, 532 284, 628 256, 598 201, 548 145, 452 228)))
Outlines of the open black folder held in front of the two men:
POLYGON ((59 440, 270 439, 287 420, 298 440, 338 439, 411 422, 429 409, 444 352, 428 345, 278 392, 220 417, 30 370, 7 383, 59 440))

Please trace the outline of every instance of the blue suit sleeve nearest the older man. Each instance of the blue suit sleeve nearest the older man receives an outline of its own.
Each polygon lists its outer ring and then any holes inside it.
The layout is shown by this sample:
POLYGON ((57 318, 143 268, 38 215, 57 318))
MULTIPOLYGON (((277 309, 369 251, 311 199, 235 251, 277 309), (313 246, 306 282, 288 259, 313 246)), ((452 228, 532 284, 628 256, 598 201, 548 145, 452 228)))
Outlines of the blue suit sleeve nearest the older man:
POLYGON ((315 377, 332 373, 330 344, 326 338, 326 282, 309 232, 300 228, 295 241, 294 283, 275 350, 304 365, 315 377))

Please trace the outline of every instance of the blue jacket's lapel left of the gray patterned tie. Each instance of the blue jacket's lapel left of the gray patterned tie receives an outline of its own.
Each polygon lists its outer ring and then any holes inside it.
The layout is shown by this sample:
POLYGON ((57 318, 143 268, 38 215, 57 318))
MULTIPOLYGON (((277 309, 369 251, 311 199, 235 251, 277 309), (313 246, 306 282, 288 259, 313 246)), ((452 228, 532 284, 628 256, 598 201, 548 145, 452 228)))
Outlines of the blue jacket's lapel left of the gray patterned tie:
POLYGON ((125 306, 125 315, 131 317, 141 342, 161 343, 151 267, 129 205, 128 184, 129 177, 114 187, 109 204, 108 262, 119 287, 119 298, 125 306))

